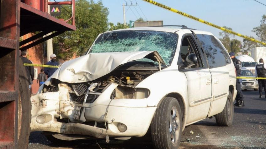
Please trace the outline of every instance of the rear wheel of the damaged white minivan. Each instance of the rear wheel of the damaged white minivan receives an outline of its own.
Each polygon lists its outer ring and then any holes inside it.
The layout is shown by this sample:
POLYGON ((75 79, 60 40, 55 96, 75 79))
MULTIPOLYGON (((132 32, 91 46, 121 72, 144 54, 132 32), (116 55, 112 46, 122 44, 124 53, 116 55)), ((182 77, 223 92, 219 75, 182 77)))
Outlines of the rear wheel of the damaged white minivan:
POLYGON ((226 104, 223 111, 215 115, 216 123, 219 126, 231 126, 234 118, 234 105, 231 92, 227 96, 226 104))

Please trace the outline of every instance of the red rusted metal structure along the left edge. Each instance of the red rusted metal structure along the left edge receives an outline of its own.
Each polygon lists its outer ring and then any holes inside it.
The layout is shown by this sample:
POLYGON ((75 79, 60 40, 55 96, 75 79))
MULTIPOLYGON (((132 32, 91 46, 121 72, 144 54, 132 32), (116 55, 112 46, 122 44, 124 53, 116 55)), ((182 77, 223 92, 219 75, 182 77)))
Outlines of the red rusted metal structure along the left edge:
POLYGON ((24 51, 65 31, 76 30, 75 0, 48 2, 48 0, 1 0, 0 1, 0 149, 19 148, 18 90, 19 46, 24 51), (48 5, 72 5, 72 17, 66 21, 47 13, 48 5), (67 21, 71 20, 71 24, 67 21), (39 32, 23 41, 19 37, 39 32), (53 32, 51 35, 44 35, 53 32))

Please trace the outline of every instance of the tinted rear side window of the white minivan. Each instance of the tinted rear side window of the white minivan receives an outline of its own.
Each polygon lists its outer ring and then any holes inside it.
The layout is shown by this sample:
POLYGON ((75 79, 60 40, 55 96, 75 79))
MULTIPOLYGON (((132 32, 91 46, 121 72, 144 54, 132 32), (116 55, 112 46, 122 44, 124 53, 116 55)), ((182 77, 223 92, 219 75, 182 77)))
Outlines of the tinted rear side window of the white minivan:
POLYGON ((222 67, 231 62, 226 50, 212 35, 196 34, 208 60, 210 68, 222 67))

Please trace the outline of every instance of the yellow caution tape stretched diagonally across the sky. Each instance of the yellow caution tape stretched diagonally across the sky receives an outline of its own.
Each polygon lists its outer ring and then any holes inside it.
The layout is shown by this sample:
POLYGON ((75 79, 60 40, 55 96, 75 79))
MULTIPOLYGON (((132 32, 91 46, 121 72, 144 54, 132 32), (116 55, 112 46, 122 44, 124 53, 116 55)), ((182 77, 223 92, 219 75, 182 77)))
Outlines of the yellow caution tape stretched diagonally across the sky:
POLYGON ((200 18, 197 18, 197 17, 191 16, 191 15, 185 13, 185 12, 181 12, 181 11, 176 10, 176 9, 174 9, 174 8, 171 8, 171 7, 168 7, 168 6, 163 5, 163 4, 161 4, 161 3, 155 2, 155 1, 153 1, 153 0, 143 0, 143 1, 146 1, 146 2, 152 3, 152 4, 156 5, 156 6, 159 6, 159 7, 162 7, 162 8, 164 8, 164 9, 170 10, 170 11, 172 11, 172 12, 176 12, 176 13, 178 13, 178 14, 181 14, 182 16, 189 17, 189 18, 191 18, 191 19, 193 19, 193 20, 196 20, 196 21, 199 21, 199 22, 205 23, 205 24, 207 24, 207 25, 210 25, 210 26, 212 26, 212 27, 215 27, 215 28, 221 29, 221 30, 223 30, 223 31, 225 31, 225 32, 229 32, 229 33, 234 34, 234 35, 237 35, 237 36, 239 36, 239 37, 246 38, 247 40, 250 40, 250 41, 253 41, 253 42, 258 42, 258 43, 261 43, 261 44, 263 44, 263 45, 266 45, 265 42, 258 41, 258 40, 256 40, 256 39, 253 39, 253 38, 250 38, 250 37, 248 37, 248 36, 242 35, 242 34, 240 34, 240 33, 237 33, 237 32, 234 32, 234 31, 231 31, 231 30, 226 29, 226 28, 224 28, 224 27, 220 27, 220 26, 215 25, 215 24, 213 24, 213 23, 210 23, 210 22, 204 21, 204 20, 202 20, 202 19, 200 19, 200 18))

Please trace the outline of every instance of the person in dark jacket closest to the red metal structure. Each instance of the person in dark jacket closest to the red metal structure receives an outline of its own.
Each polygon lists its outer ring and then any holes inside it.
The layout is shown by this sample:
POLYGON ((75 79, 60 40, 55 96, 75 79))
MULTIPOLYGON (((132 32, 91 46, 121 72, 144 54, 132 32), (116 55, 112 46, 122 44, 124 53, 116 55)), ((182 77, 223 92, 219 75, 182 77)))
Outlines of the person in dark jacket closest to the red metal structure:
MULTIPOLYGON (((23 61, 23 63, 27 63, 27 64, 32 64, 32 62, 27 58, 27 51, 22 51, 21 52, 21 59, 23 61)), ((34 80, 34 67, 33 66, 25 66, 26 72, 27 72, 27 76, 28 76, 28 80, 29 80, 29 84, 32 84, 32 81, 34 80)), ((31 86, 29 85, 29 88, 31 86)))

